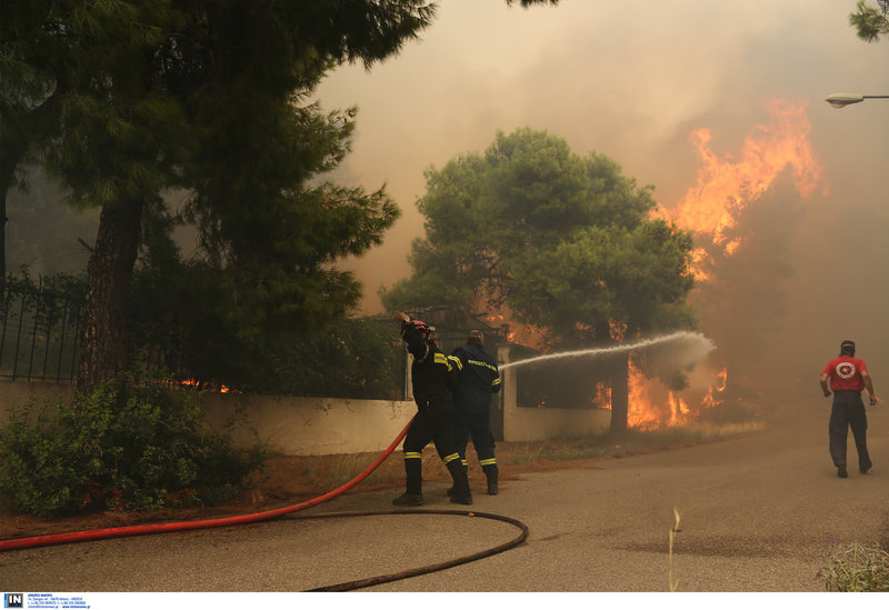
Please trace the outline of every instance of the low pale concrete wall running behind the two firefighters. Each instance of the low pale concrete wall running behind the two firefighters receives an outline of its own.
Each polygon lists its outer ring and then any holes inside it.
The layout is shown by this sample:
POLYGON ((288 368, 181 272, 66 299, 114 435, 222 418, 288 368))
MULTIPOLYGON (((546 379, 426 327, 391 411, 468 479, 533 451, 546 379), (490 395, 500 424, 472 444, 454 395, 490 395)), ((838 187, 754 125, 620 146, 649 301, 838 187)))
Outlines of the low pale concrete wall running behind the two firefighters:
MULTIPOLYGON (((503 371, 503 440, 567 440, 607 430, 611 412, 602 409, 532 409, 516 406, 516 374, 503 371)), ((0 381, 0 423, 13 406, 69 399, 73 386, 0 381)), ((208 423, 237 447, 261 441, 290 456, 382 451, 417 412, 412 401, 347 400, 207 393, 208 423)))

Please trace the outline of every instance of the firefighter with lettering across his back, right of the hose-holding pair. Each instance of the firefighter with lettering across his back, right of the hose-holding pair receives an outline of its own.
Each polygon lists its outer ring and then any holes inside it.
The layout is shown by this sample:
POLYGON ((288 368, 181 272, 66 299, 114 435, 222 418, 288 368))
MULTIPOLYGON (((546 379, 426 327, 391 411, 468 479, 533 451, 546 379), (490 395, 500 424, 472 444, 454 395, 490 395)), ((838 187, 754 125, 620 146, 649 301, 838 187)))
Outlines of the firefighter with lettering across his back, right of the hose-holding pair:
POLYGON ((481 470, 488 481, 488 494, 498 493, 497 458, 491 432, 491 396, 500 391, 500 371, 497 361, 485 351, 485 336, 479 330, 469 332, 465 346, 453 350, 452 357, 461 363, 457 389, 453 394, 453 440, 463 466, 469 437, 476 448, 481 470))

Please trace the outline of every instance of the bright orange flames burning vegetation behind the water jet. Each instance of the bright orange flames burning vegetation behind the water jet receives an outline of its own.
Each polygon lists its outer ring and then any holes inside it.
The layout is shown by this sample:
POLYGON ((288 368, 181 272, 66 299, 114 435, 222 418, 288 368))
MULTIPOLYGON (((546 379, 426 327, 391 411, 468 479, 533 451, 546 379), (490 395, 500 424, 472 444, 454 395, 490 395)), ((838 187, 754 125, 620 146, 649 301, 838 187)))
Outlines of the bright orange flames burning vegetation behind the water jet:
MULTIPOLYGON (((739 326, 738 318, 733 316, 736 312, 722 309, 727 301, 737 298, 720 293, 729 283, 720 282, 725 263, 735 257, 742 257, 751 248, 750 243, 759 243, 751 239, 743 222, 751 207, 787 197, 808 199, 823 171, 809 141, 811 124, 807 104, 775 100, 766 106, 766 110, 770 121, 756 126, 736 154, 720 156, 713 152, 709 129, 691 131, 689 139, 700 159, 697 181, 679 202, 672 207, 661 204, 652 214, 695 236, 691 272, 697 280, 693 296, 703 310, 700 329, 707 337, 717 338, 719 349, 700 354, 699 360, 690 363, 675 363, 673 371, 666 374, 657 366, 652 368, 647 356, 632 358, 628 378, 630 428, 651 430, 708 418, 718 420, 713 416, 717 408, 728 407, 730 410, 732 404, 743 401, 741 397, 746 391, 739 386, 732 388, 729 383, 729 370, 735 367, 732 358, 742 350, 739 340, 732 339, 738 333, 728 330, 730 326, 739 326), (776 194, 776 184, 788 173, 792 189, 776 194), (720 294, 710 302, 715 292, 720 294)), ((757 261, 751 267, 757 267, 757 261)), ((737 272, 737 267, 730 271, 737 272)), ((737 288, 739 291, 743 289, 745 286, 737 288)), ((508 316, 505 318, 501 314, 491 317, 491 320, 498 324, 510 321, 508 316)), ((545 334, 539 329, 521 324, 509 324, 509 328, 511 342, 547 351, 545 334)), ((596 364, 587 363, 585 372, 573 377, 571 386, 581 386, 577 392, 569 392, 575 398, 566 394, 565 383, 556 382, 551 369, 537 373, 526 371, 522 374, 539 377, 536 381, 529 379, 526 387, 542 384, 549 389, 546 392, 526 391, 522 401, 520 381, 520 403, 541 408, 610 408, 611 389, 606 381, 595 379, 595 369, 596 364), (586 397, 579 401, 581 403, 577 400, 579 394, 586 397), (536 404, 529 404, 529 400, 536 401, 536 404)))

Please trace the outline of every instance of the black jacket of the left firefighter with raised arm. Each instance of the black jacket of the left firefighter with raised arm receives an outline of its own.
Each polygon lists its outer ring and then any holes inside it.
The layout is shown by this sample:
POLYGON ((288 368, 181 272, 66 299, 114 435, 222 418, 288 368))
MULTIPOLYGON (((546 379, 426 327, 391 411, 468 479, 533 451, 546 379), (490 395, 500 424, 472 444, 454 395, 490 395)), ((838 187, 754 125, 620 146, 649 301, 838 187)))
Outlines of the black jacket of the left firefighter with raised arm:
POLYGON ((460 361, 446 357, 434 341, 424 339, 409 322, 401 324, 401 339, 413 356, 410 373, 417 407, 423 409, 429 402, 437 400, 450 402, 460 361))

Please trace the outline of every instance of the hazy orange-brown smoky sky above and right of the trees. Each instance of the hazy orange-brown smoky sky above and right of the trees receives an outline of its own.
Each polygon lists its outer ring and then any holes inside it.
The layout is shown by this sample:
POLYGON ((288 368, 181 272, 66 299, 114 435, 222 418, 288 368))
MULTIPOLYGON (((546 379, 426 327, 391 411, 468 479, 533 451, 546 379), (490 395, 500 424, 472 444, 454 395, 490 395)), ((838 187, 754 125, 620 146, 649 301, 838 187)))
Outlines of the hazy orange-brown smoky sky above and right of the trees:
MULTIPOLYGON (((855 339, 879 392, 879 380, 889 382, 889 100, 842 110, 823 101, 889 93, 889 40, 858 39, 848 24, 855 4, 441 2, 420 41, 371 70, 341 68, 317 91, 327 109, 359 108, 338 178, 368 189, 384 183, 402 210, 381 247, 347 263, 366 287, 363 311, 379 312, 378 287, 410 273, 410 242, 423 236, 416 208, 423 170, 483 151, 498 130, 528 126, 565 138, 578 154, 607 154, 653 184, 669 209, 695 184, 691 130, 709 129, 711 149, 728 158, 769 122, 766 104, 785 99, 806 107, 823 173, 808 198, 777 181, 739 227, 762 233, 751 240, 760 250, 735 263, 736 284, 719 289, 761 299, 749 312, 759 319, 742 321, 757 329, 747 343, 726 336, 722 350, 756 361, 749 374, 763 386, 817 391, 839 342, 855 339)), ((729 314, 743 317, 743 308, 729 314)), ((719 312, 709 316, 713 334, 732 328, 728 318, 716 326, 719 312)))

